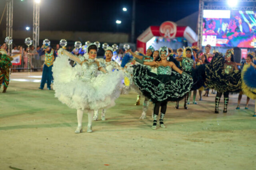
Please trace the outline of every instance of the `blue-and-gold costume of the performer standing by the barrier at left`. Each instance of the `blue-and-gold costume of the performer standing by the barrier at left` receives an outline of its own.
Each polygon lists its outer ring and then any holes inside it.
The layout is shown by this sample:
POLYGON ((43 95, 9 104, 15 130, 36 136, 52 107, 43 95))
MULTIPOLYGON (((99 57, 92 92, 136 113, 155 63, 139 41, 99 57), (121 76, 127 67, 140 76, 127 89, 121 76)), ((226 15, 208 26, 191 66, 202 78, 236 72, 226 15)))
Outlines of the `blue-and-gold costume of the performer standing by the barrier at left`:
POLYGON ((42 74, 42 80, 40 84, 40 89, 44 89, 44 84, 47 81, 47 88, 48 90, 51 90, 51 82, 52 82, 52 65, 55 61, 55 58, 57 57, 56 52, 50 47, 49 51, 43 51, 43 49, 40 49, 39 55, 45 55, 44 59, 44 68, 43 68, 43 74, 42 74))

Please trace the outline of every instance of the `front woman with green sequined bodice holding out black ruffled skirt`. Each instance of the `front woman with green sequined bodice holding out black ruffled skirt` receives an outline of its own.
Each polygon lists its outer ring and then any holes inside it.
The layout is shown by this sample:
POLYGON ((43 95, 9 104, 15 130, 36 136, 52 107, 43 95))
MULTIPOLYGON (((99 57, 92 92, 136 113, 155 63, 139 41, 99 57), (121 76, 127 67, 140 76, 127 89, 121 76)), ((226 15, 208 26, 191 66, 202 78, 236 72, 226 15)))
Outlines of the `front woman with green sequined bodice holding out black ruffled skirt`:
POLYGON ((147 66, 134 66, 134 83, 144 96, 150 98, 154 105, 154 121, 152 129, 156 129, 158 112, 161 106, 160 127, 165 128, 164 115, 168 101, 178 101, 190 91, 192 77, 178 69, 173 62, 167 61, 168 48, 160 48, 159 61, 144 62, 145 65, 155 66, 157 74, 150 72, 147 66), (175 70, 176 72, 172 71, 175 70))

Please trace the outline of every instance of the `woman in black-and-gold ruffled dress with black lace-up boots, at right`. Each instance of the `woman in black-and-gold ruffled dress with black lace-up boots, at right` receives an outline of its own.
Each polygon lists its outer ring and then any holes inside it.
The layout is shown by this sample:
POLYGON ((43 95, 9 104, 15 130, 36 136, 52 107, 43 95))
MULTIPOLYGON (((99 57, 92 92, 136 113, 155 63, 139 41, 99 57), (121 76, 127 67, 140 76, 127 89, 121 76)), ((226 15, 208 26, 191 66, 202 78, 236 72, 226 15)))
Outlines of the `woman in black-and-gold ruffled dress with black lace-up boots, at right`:
POLYGON ((215 98, 215 113, 219 113, 219 103, 222 94, 224 94, 224 110, 227 112, 229 92, 240 91, 241 73, 234 63, 234 51, 228 49, 225 58, 222 54, 215 53, 210 64, 206 65, 206 86, 215 89, 217 95, 215 98))

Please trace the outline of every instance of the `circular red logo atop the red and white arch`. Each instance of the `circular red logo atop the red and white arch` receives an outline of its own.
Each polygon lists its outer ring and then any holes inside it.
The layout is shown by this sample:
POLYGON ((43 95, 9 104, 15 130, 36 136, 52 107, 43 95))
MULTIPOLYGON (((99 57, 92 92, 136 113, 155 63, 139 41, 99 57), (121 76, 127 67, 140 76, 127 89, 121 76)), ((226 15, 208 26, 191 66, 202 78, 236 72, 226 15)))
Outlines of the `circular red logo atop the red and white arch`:
POLYGON ((164 38, 174 38, 177 32, 177 25, 172 21, 165 21, 160 25, 159 32, 164 38))

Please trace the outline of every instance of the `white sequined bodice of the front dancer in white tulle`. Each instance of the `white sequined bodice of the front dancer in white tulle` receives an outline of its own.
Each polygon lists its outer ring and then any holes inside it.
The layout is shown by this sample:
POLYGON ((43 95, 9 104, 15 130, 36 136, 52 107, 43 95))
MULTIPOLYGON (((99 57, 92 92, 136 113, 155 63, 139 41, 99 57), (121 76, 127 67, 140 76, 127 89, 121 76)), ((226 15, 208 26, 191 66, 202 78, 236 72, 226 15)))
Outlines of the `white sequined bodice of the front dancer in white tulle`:
POLYGON ((82 63, 82 72, 79 75, 79 79, 83 81, 91 80, 96 77, 98 72, 98 64, 94 59, 88 59, 82 63))

